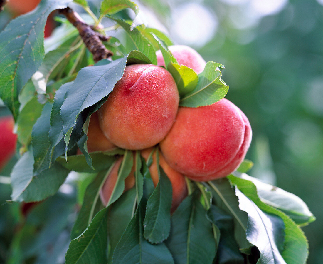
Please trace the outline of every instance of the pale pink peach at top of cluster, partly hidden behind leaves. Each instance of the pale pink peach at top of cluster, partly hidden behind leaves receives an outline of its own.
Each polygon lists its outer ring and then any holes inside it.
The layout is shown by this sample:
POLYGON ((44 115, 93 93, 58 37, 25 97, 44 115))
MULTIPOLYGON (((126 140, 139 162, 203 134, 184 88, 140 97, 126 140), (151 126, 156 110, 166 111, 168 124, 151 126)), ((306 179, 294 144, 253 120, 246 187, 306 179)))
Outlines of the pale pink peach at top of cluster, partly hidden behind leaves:
MULTIPOLYGON (((178 64, 185 65, 193 69, 197 74, 204 70, 206 62, 195 49, 184 45, 173 45, 169 46, 168 49, 176 58, 178 64)), ((156 52, 156 56, 157 65, 165 67, 165 61, 160 50, 156 52)))

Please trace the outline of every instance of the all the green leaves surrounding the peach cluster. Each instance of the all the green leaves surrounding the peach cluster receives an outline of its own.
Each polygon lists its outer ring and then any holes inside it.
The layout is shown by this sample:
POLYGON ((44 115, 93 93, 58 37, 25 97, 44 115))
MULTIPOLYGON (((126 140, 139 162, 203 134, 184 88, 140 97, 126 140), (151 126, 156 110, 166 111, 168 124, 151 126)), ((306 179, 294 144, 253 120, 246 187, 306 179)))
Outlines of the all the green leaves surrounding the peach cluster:
MULTIPOLYGON (((74 35, 63 31, 60 38, 54 33, 47 41, 52 48, 44 49, 41 32, 47 16, 69 2, 42 1, 35 11, 12 20, 0 33, 4 54, 0 96, 15 117, 20 143, 20 156, 10 175, 10 202, 43 201, 21 224, 10 256, 4 258, 12 263, 30 259, 59 263, 58 256, 66 253, 67 264, 305 263, 308 243, 299 225, 315 218, 298 197, 285 191, 274 197, 262 183, 236 172, 203 184, 187 179, 189 195, 171 214, 169 179, 158 167, 159 182, 154 188, 149 160, 146 163, 138 151, 135 158, 122 149, 88 153, 91 114, 105 102, 127 64, 157 64, 157 49, 162 50, 166 68, 178 85, 181 106, 211 105, 224 98, 229 86, 221 79, 222 64, 209 61, 196 74, 172 57, 167 48, 171 41, 163 33, 120 19, 126 8, 138 15, 137 5, 128 0, 103 1, 94 27, 106 16, 124 29, 135 50, 120 47, 124 56, 87 67, 93 60, 75 30, 74 35), (77 154, 78 148, 82 154, 77 154), (124 158, 117 182, 103 206, 99 192, 119 155, 124 158), (134 164, 135 187, 123 193, 134 164), (71 217, 73 226, 67 216, 73 214, 76 195, 64 195, 69 183, 63 184, 71 171, 77 171, 78 191, 84 194, 78 216, 71 217), (86 173, 94 174, 89 180, 82 177, 89 176, 86 173), (61 206, 56 208, 56 204, 61 206), (47 214, 41 215, 42 210, 47 214), (52 254, 44 254, 40 245, 52 245, 52 254)), ((75 2, 93 16, 87 1, 75 2)), ((67 23, 57 31, 68 27, 67 23)), ((251 167, 245 161, 238 171, 251 167)))

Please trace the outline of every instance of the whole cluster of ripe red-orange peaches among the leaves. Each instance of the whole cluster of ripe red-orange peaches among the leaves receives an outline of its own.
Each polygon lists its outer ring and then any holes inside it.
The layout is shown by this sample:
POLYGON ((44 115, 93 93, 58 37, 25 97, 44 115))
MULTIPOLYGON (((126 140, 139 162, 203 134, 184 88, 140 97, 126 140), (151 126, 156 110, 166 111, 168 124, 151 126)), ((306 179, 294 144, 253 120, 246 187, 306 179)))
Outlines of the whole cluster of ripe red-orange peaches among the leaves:
MULTIPOLYGON (((206 62, 192 48, 170 46, 181 65, 198 74, 206 62)), ((119 147, 141 150, 147 160, 159 144, 159 165, 172 183, 172 210, 187 195, 184 176, 210 181, 235 171, 245 158, 251 141, 251 127, 245 114, 227 99, 197 108, 179 107, 174 79, 165 70, 160 51, 158 66, 132 64, 125 68, 107 101, 90 119, 88 151, 119 147)), ((156 153, 149 167, 157 185, 156 153)), ((117 180, 122 157, 117 160, 103 185, 100 197, 107 204, 117 180)), ((125 190, 135 184, 134 170, 125 181, 125 190)))

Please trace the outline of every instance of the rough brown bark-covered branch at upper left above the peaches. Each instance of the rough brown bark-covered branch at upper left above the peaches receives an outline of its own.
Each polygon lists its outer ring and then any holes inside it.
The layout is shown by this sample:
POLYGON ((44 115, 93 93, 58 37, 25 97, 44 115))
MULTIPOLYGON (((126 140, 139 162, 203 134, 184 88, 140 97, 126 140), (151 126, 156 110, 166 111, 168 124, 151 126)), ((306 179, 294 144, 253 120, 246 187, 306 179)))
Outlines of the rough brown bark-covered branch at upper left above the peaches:
POLYGON ((78 29, 78 32, 85 46, 93 54, 93 59, 95 62, 98 62, 102 59, 111 58, 113 53, 110 50, 108 50, 102 43, 102 41, 109 40, 110 37, 106 37, 100 34, 99 32, 95 31, 92 26, 89 26, 83 21, 83 19, 78 15, 78 13, 76 13, 69 7, 59 9, 59 13, 66 16, 68 21, 78 29))

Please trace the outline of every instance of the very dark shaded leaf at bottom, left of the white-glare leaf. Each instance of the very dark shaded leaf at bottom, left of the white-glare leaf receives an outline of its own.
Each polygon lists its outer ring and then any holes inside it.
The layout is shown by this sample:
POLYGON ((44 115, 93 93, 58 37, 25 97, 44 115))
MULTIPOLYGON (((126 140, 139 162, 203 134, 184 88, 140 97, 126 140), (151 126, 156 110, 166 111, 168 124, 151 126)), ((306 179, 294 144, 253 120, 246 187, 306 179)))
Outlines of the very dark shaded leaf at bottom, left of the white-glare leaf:
POLYGON ((234 239, 233 218, 225 214, 220 208, 211 205, 208 217, 212 219, 220 232, 220 241, 216 252, 219 264, 244 264, 245 260, 239 251, 239 246, 234 239))

